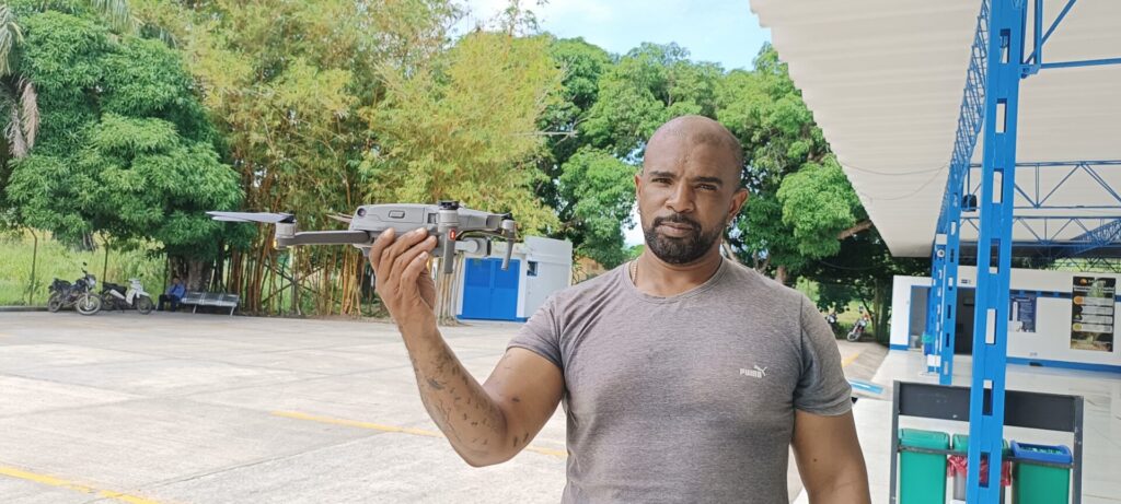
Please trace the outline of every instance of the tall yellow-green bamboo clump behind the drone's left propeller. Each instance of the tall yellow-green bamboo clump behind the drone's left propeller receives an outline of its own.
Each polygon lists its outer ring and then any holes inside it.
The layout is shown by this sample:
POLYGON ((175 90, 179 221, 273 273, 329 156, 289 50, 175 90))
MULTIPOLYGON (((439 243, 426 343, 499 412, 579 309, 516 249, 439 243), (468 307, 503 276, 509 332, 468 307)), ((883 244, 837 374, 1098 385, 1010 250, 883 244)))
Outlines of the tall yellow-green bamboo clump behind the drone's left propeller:
MULTIPOLYGON (((337 225, 330 215, 383 200, 360 169, 381 150, 363 111, 385 100, 382 66, 414 68, 439 54, 457 16, 442 0, 149 0, 138 11, 159 20, 184 52, 224 159, 241 176, 243 206, 294 212, 312 230, 337 225)), ((307 249, 293 259, 260 233, 251 246, 231 250, 229 288, 250 311, 279 311, 271 279, 291 281, 298 270, 300 283, 313 273, 322 279, 321 312, 358 312, 356 251, 307 249)), ((295 290, 297 298, 308 288, 295 290)))

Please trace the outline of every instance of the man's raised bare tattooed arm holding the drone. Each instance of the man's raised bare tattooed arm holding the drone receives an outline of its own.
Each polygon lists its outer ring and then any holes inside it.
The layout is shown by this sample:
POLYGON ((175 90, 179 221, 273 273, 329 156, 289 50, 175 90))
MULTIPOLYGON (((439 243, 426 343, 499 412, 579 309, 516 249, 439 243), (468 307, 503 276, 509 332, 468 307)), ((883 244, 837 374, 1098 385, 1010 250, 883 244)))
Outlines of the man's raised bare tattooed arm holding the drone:
POLYGON ((436 239, 417 230, 396 236, 390 228, 373 242, 370 265, 377 290, 397 323, 413 361, 428 414, 472 466, 509 460, 537 435, 560 402, 564 377, 552 362, 511 348, 480 384, 439 334, 428 274, 436 239))

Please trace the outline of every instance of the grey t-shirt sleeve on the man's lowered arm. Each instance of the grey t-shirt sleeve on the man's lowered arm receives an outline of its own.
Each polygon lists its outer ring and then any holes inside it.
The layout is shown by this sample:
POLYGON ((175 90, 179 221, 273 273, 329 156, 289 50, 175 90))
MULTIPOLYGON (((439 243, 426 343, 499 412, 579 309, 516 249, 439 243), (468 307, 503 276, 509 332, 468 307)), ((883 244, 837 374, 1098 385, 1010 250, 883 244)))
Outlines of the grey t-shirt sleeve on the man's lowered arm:
POLYGON ((841 352, 833 329, 805 297, 802 298, 802 376, 794 392, 794 407, 827 417, 852 409, 852 386, 841 370, 841 352))

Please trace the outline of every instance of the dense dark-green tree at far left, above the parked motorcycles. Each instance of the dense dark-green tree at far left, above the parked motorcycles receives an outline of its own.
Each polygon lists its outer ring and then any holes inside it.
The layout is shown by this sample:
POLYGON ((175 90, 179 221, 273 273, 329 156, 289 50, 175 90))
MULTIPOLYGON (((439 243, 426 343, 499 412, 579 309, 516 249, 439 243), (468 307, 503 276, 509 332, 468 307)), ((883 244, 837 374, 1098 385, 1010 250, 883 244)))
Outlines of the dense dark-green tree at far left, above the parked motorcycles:
POLYGON ((17 71, 36 83, 35 151, 11 164, 17 220, 71 242, 101 232, 155 239, 197 288, 222 228, 203 209, 237 207, 234 172, 182 57, 160 41, 111 36, 93 10, 29 11, 17 71))

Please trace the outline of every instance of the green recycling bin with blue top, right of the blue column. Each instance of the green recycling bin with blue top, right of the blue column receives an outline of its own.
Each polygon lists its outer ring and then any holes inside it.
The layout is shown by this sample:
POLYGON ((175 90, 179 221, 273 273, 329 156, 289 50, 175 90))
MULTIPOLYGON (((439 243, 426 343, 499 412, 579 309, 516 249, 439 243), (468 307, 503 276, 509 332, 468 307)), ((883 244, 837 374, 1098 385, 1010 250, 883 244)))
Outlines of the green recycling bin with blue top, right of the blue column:
POLYGON ((1038 464, 1071 464, 1073 457, 1069 448, 1012 441, 1012 456, 1016 457, 1012 504, 1071 502, 1071 469, 1038 464))

